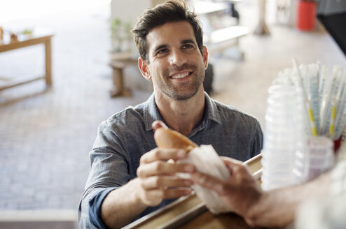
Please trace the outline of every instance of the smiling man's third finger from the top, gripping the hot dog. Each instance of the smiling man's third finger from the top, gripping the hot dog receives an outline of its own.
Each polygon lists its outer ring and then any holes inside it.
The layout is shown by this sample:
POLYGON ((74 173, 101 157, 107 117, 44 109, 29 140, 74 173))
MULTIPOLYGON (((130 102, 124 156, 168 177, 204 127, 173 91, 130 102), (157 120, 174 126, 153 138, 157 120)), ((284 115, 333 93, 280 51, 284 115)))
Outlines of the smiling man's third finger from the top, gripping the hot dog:
POLYGON ((189 179, 177 177, 155 176, 148 177, 141 182, 144 189, 172 188, 172 187, 190 187, 193 183, 189 179))

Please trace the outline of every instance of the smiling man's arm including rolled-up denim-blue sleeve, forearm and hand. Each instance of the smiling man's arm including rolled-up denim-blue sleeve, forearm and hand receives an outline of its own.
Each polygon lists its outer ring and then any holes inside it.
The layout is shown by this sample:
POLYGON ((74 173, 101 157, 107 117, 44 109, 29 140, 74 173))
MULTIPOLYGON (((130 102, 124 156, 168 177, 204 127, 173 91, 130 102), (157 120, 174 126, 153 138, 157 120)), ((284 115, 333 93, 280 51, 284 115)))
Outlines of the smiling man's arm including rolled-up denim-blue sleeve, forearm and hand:
MULTIPOLYGON (((104 121, 99 126, 90 152, 90 173, 79 205, 81 228, 119 228, 146 207, 160 204, 162 199, 191 193, 191 180, 175 176, 175 172, 187 171, 186 164, 167 163, 169 159, 186 157, 187 152, 179 149, 156 148, 144 154, 137 168, 138 178, 128 182, 129 158, 122 141, 125 136, 110 125, 104 121)), ((154 130, 158 127, 159 124, 153 126, 154 130)), ((188 165, 190 170, 191 166, 193 169, 193 165, 188 165)))

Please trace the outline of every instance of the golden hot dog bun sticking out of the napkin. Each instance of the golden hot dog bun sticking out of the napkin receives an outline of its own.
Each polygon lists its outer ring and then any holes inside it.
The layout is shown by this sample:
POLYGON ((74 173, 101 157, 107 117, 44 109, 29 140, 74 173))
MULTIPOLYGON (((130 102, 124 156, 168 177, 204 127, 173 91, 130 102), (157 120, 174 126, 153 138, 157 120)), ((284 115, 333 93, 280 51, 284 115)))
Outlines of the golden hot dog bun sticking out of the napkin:
POLYGON ((191 149, 198 147, 195 142, 188 139, 178 131, 167 127, 160 127, 155 130, 154 139, 156 145, 162 148, 185 149, 189 152, 191 149))

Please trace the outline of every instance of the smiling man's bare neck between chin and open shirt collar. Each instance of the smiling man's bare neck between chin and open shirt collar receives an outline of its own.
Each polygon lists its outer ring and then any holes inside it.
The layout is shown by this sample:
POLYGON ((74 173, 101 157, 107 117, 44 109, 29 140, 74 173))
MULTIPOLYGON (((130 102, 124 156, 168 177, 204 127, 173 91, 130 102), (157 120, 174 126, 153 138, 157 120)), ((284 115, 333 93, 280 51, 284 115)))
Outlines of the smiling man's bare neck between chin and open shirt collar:
POLYGON ((177 101, 165 95, 155 94, 155 102, 165 124, 186 136, 203 119, 205 111, 203 89, 186 101, 177 101))

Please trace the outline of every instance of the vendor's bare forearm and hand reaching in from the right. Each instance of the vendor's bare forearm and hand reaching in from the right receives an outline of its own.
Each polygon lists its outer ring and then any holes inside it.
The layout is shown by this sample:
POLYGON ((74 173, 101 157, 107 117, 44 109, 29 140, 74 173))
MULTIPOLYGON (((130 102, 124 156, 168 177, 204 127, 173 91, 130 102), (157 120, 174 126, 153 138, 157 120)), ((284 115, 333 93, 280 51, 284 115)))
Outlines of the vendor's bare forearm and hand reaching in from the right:
POLYGON ((223 162, 230 170, 230 179, 221 181, 200 172, 191 179, 219 193, 230 211, 244 217, 250 226, 287 226, 301 202, 328 193, 331 172, 307 184, 263 192, 246 166, 230 158, 223 158, 223 162))

